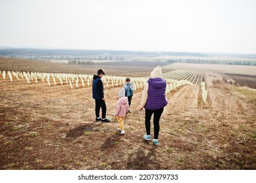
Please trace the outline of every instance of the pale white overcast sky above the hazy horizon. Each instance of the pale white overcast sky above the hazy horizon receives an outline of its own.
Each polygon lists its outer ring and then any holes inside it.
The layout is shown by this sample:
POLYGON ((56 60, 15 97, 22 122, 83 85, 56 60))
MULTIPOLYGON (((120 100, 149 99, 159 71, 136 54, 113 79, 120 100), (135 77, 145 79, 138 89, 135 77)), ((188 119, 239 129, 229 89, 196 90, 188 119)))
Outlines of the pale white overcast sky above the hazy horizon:
POLYGON ((0 46, 256 54, 256 1, 0 0, 0 46))

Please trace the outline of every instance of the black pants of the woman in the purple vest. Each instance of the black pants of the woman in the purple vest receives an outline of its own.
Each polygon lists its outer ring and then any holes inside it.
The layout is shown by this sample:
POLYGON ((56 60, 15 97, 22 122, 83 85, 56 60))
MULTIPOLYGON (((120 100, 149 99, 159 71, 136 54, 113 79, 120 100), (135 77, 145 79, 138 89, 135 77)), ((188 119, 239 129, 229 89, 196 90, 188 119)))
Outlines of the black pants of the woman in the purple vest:
POLYGON ((154 114, 154 139, 158 139, 158 134, 159 134, 159 130, 160 130, 160 125, 159 125, 159 120, 160 117, 162 115, 162 112, 164 111, 164 108, 160 108, 157 110, 149 110, 146 109, 145 110, 145 127, 146 127, 146 131, 147 131, 147 135, 150 135, 150 127, 151 127, 151 116, 152 114, 154 114))

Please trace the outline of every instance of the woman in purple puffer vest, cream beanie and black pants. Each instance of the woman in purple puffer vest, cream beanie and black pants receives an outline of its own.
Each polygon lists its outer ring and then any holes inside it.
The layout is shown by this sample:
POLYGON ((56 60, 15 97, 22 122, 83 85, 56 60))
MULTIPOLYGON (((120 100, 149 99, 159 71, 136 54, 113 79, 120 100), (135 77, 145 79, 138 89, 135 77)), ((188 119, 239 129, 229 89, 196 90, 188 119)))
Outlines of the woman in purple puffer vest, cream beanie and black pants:
POLYGON ((143 90, 140 110, 145 108, 145 127, 147 133, 143 136, 147 141, 151 141, 151 116, 154 114, 154 139, 153 144, 158 145, 158 134, 160 130, 159 120, 168 104, 166 99, 166 80, 162 79, 162 69, 157 66, 151 73, 151 78, 143 90))

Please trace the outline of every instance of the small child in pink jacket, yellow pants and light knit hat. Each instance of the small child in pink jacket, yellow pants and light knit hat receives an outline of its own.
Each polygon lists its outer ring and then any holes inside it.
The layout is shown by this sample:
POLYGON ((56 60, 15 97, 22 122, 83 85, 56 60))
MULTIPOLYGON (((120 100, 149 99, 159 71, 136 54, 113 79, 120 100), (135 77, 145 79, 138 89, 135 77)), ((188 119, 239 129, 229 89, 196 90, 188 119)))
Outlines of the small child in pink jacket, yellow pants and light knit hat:
POLYGON ((121 134, 124 134, 124 116, 129 110, 128 98, 125 97, 124 88, 119 91, 119 101, 117 101, 117 108, 115 110, 115 116, 119 122, 120 128, 118 130, 121 134))

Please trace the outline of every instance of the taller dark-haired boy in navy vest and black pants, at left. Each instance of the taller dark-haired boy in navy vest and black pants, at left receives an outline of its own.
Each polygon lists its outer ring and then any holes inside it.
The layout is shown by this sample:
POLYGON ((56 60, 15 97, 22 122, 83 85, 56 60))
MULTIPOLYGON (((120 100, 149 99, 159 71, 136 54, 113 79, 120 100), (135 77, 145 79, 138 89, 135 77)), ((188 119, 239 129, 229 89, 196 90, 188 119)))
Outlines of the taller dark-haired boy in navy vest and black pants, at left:
POLYGON ((104 88, 101 78, 105 75, 103 69, 99 69, 97 75, 94 75, 92 81, 92 97, 95 99, 95 114, 96 122, 109 123, 110 120, 106 118, 107 107, 104 98, 104 88), (102 112, 102 118, 100 118, 100 108, 102 112))

